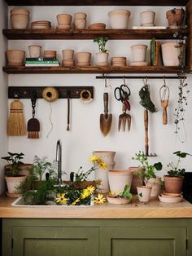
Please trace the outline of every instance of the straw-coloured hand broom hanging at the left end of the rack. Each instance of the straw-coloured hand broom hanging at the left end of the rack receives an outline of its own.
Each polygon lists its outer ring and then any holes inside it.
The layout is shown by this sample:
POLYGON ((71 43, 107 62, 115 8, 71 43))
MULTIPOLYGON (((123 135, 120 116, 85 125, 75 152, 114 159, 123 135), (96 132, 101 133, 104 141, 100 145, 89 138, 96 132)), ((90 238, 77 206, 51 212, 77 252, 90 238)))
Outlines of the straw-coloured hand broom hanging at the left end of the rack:
POLYGON ((20 102, 19 94, 15 92, 14 101, 10 105, 10 115, 7 121, 7 135, 26 135, 26 123, 24 121, 23 104, 20 102))

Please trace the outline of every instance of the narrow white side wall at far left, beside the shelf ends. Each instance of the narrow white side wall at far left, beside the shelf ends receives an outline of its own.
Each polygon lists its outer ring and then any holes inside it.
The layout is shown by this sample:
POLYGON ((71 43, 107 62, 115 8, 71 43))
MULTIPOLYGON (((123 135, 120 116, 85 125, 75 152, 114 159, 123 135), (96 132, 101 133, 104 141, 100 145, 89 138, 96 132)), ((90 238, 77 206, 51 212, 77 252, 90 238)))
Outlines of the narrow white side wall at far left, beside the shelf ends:
MULTIPOLYGON (((0 2, 0 30, 7 28, 7 4, 0 2)), ((2 66, 5 64, 5 51, 7 50, 7 40, 0 33, 0 156, 7 155, 7 75, 2 72, 2 66)), ((0 161, 0 194, 5 190, 4 183, 4 162, 0 161)))

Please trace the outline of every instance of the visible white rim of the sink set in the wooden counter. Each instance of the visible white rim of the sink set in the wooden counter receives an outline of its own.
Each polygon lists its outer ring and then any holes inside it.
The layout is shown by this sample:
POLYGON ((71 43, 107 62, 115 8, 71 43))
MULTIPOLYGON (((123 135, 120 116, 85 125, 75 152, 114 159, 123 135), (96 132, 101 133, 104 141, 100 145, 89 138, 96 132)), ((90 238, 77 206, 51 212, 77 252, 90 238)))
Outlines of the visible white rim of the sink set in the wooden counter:
POLYGON ((54 201, 49 201, 49 205, 26 205, 25 201, 24 201, 24 197, 19 197, 17 198, 12 204, 12 206, 15 207, 33 207, 33 208, 37 208, 37 207, 89 207, 89 206, 93 206, 94 205, 94 201, 91 201, 90 205, 55 205, 54 201))

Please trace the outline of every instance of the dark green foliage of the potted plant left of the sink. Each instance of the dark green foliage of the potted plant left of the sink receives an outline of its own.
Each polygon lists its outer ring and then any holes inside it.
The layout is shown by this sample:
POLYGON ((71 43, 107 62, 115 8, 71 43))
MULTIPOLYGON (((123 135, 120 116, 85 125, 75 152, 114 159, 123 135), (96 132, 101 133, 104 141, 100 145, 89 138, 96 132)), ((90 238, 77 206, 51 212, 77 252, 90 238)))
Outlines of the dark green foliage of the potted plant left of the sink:
POLYGON ((7 152, 9 156, 2 157, 2 159, 6 160, 8 163, 8 167, 6 170, 7 176, 15 177, 19 175, 21 170, 21 166, 24 164, 21 160, 24 159, 24 153, 13 153, 7 152))

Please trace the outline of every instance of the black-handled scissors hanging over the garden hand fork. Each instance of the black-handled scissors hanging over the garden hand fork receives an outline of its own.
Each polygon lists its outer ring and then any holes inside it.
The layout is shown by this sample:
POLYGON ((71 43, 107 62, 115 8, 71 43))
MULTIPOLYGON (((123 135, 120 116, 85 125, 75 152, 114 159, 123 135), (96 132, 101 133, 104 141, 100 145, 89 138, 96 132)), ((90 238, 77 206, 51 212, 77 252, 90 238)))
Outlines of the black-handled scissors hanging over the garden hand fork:
POLYGON ((116 87, 116 89, 114 90, 114 95, 116 100, 121 101, 124 104, 125 108, 130 111, 131 105, 129 104, 129 96, 131 95, 131 91, 129 87, 126 85, 116 87))

